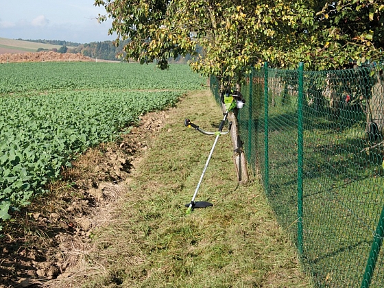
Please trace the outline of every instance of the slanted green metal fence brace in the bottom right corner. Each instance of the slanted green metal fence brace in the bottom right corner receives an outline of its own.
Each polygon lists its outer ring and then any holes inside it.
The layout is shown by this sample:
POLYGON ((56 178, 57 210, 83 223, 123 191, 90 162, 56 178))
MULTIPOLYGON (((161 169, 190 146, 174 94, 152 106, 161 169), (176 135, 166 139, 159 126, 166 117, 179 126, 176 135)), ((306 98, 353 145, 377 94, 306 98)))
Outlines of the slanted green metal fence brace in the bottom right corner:
POLYGON ((379 223, 376 227, 376 232, 374 232, 373 243, 371 246, 370 256, 368 258, 367 266, 365 267, 365 273, 363 276, 363 281, 361 282, 361 288, 370 287, 372 276, 374 272, 374 267, 376 266, 377 257, 379 256, 381 244, 383 243, 384 237, 384 206, 381 210, 381 215, 379 223))

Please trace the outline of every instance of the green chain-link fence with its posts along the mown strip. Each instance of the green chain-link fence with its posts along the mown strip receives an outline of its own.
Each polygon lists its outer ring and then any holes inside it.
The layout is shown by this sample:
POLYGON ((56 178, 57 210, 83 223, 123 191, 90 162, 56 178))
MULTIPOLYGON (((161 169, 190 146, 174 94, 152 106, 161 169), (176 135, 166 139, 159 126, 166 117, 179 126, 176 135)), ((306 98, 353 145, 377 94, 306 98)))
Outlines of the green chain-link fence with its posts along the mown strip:
MULTIPOLYGON (((241 91, 248 163, 316 287, 384 287, 384 76, 377 68, 265 65, 241 91)), ((213 77, 211 88, 218 97, 213 77)))

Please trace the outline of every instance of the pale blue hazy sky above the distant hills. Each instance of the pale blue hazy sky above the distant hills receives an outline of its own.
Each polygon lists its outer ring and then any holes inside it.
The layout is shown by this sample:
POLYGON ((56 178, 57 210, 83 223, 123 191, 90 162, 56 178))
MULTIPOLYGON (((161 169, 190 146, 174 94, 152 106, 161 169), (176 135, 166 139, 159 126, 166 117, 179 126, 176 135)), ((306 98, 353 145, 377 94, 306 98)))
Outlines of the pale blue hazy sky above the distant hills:
POLYGON ((0 0, 0 37, 90 43, 108 36, 112 21, 97 23, 95 0, 0 0))

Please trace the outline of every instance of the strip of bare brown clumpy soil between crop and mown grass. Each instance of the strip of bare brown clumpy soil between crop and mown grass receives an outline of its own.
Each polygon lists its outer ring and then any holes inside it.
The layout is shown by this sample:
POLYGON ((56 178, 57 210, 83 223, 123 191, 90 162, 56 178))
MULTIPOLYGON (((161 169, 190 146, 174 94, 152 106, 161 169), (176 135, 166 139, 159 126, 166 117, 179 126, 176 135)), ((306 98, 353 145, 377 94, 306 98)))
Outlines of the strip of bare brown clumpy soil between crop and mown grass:
POLYGON ((110 221, 132 169, 169 112, 144 115, 116 143, 89 149, 49 185, 50 193, 12 215, 0 238, 0 287, 44 287, 71 276, 70 268, 94 249, 93 231, 110 221))

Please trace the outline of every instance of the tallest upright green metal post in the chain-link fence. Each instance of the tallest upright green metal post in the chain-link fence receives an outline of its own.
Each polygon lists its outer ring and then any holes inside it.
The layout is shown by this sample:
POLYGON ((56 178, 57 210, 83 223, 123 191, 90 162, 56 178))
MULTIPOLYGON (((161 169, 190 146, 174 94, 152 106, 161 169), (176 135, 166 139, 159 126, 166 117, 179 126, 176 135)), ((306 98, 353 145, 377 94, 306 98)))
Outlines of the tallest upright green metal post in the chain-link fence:
POLYGON ((303 102, 303 78, 304 65, 299 63, 298 69, 298 251, 302 255, 302 163, 303 163, 303 125, 302 125, 302 102, 303 102))

